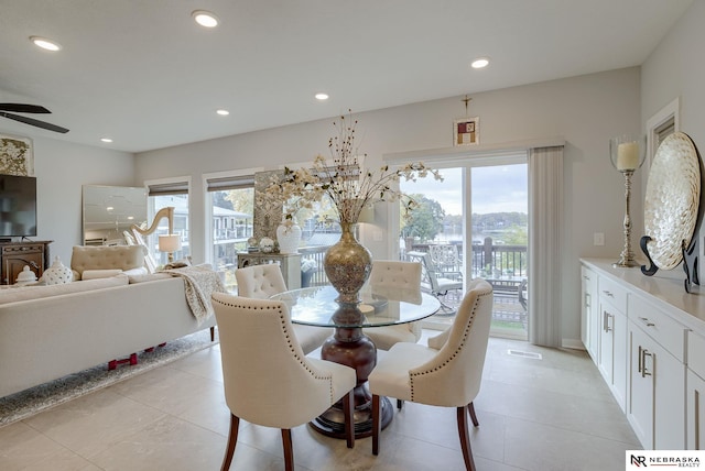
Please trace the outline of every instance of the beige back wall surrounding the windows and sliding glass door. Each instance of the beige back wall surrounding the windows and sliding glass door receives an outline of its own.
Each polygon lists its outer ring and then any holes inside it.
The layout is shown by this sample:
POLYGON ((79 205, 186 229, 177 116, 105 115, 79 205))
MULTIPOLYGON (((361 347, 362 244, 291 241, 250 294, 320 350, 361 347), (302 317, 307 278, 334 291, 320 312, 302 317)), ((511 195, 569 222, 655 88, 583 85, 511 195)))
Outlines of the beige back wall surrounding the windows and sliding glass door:
MULTIPOLYGON (((563 136, 565 224, 563 331, 579 342, 579 256, 618 259, 622 247, 623 180, 609 163, 609 138, 640 127, 639 68, 612 70, 473 95, 470 116, 480 118, 480 142, 563 136), (593 247, 604 232, 605 247, 593 247)), ((465 114, 462 97, 412 103, 356 114, 360 151, 370 167, 388 153, 452 145, 453 120, 465 114)), ((138 155, 137 180, 191 175, 192 215, 203 213, 200 175, 235 168, 274 168, 327 153, 332 120, 252 132, 138 155)), ((640 191, 637 182, 636 191, 640 191)), ((640 201, 632 207, 633 231, 641 232, 640 201)), ((204 220, 192 218, 194 249, 204 247, 204 220)), ((386 244, 370 244, 382 258, 386 244)), ((203 249, 194 250, 196 260, 203 249)))

